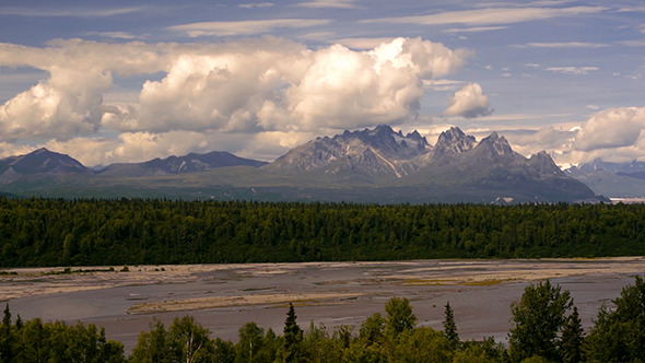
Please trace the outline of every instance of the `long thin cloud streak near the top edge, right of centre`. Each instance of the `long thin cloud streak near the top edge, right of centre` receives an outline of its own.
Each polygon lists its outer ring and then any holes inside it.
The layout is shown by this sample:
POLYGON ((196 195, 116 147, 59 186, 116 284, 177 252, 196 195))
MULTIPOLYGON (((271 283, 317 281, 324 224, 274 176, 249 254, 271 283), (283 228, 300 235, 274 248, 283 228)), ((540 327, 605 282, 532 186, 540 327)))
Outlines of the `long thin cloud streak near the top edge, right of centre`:
POLYGON ((365 20, 363 23, 394 23, 394 24, 468 24, 494 25, 513 24, 560 16, 577 16, 606 11, 603 7, 571 7, 571 8, 490 8, 477 10, 448 11, 430 15, 413 15, 399 17, 383 17, 365 20))

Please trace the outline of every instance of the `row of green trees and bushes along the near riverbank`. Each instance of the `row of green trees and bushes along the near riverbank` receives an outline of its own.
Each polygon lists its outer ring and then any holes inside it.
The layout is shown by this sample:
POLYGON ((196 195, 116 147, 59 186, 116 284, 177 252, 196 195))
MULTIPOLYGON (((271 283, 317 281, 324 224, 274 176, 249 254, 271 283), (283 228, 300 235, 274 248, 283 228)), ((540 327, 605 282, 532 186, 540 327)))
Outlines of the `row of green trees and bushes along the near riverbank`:
POLYGON ((568 291, 548 280, 530 284, 511 305, 514 327, 508 348, 492 338, 461 341, 454 312, 445 306, 444 329, 417 327, 407 298, 392 297, 386 316, 376 313, 357 331, 341 326, 329 332, 314 323, 304 331, 290 304, 282 335, 250 321, 238 341, 211 339, 192 317, 166 328, 155 320, 142 331, 126 359, 124 346, 106 341, 103 329, 82 324, 12 323, 9 306, 0 325, 0 362, 643 362, 645 361, 645 283, 636 278, 605 305, 585 335, 568 291))

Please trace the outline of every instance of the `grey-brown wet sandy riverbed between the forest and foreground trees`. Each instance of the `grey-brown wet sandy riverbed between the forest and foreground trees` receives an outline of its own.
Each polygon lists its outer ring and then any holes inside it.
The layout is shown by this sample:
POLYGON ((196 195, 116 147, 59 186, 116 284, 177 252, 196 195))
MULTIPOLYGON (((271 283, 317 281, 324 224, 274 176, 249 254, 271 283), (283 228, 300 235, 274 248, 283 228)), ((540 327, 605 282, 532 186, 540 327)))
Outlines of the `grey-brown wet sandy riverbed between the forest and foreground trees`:
POLYGON ((509 305, 529 283, 551 279, 570 290, 589 327, 602 303, 645 273, 645 258, 138 266, 117 272, 121 268, 7 270, 17 274, 0 276, 0 301, 23 319, 102 325, 127 351, 153 318, 169 325, 192 315, 213 337, 231 340, 247 321, 281 333, 289 302, 305 330, 314 321, 330 332, 340 325, 357 332, 392 296, 408 297, 419 325, 435 329, 449 301, 461 339, 505 341, 509 305))

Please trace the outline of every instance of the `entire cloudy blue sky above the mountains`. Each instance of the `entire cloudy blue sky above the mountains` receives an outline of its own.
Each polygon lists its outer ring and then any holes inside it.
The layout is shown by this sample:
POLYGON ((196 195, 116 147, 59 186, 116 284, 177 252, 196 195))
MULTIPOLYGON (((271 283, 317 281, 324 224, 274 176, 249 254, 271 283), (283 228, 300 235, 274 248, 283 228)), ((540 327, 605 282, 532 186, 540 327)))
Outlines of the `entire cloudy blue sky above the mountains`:
POLYGON ((5 0, 0 157, 272 161, 387 124, 645 161, 644 72, 641 0, 5 0))

